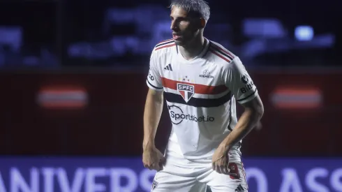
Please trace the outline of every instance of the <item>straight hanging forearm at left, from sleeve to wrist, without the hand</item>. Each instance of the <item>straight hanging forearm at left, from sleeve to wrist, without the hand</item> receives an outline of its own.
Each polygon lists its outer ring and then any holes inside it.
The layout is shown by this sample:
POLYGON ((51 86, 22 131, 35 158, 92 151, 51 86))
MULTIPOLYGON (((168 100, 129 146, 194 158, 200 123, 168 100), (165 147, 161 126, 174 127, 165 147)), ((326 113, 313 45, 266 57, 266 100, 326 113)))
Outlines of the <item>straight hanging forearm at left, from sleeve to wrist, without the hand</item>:
POLYGON ((143 149, 154 147, 154 138, 163 110, 163 95, 148 94, 144 109, 143 149))

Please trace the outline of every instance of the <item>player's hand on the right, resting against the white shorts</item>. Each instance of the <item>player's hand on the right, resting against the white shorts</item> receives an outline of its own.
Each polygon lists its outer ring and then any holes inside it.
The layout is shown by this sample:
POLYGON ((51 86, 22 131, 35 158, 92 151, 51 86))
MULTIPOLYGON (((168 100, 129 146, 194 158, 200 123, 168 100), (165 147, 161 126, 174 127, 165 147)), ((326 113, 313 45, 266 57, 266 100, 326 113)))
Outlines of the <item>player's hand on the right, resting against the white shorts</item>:
POLYGON ((211 160, 212 168, 218 173, 223 173, 225 175, 230 175, 228 165, 229 165, 229 157, 228 157, 228 147, 219 145, 215 150, 213 158, 211 160))

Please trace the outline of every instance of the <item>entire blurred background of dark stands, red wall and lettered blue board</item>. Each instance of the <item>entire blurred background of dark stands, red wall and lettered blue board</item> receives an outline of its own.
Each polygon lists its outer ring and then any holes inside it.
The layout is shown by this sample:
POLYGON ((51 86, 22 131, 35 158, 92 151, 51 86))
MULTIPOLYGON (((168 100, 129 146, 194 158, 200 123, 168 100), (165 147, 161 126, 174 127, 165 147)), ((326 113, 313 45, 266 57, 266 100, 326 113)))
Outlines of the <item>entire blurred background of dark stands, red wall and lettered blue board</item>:
MULTIPOLYGON (((341 2, 208 2, 205 36, 241 58, 265 105, 242 147, 250 191, 342 191, 341 2)), ((145 79, 167 7, 0 1, 0 192, 149 191, 145 79)))

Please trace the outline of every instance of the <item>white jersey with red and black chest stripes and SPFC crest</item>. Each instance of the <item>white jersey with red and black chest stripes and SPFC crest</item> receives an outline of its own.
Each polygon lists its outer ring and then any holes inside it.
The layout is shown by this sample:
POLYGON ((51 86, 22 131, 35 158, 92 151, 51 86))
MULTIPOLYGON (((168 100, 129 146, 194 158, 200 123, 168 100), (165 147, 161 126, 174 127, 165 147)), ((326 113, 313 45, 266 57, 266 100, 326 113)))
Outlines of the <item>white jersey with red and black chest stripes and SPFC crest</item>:
MULTIPOLYGON (((174 40, 151 54, 147 85, 164 91, 172 121, 169 150, 193 161, 211 161, 214 150, 237 124, 235 101, 246 103, 258 91, 239 57, 205 38, 202 52, 186 60, 174 40)), ((240 161, 241 141, 230 150, 240 161)))

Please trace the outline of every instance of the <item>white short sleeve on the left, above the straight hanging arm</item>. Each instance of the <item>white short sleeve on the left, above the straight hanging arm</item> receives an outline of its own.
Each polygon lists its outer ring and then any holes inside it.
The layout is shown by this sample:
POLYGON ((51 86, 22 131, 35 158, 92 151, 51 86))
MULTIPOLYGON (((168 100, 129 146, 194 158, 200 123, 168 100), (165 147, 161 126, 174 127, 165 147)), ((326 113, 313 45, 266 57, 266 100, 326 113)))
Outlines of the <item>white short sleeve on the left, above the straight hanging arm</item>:
POLYGON ((151 58, 149 59, 149 74, 147 75, 146 83, 150 89, 154 89, 156 91, 163 91, 161 74, 158 71, 158 62, 155 54, 155 52, 152 52, 151 58))

